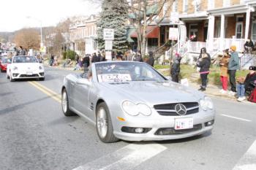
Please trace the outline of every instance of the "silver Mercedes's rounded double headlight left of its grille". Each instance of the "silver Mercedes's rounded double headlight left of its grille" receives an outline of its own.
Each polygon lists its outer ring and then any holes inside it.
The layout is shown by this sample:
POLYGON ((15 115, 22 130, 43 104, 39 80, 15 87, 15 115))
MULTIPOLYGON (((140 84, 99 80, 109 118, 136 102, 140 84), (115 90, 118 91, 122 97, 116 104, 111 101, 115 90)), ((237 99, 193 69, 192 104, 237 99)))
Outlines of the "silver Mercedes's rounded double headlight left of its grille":
POLYGON ((149 116, 151 115, 151 109, 146 104, 135 104, 132 101, 124 101, 121 104, 122 108, 124 109, 124 112, 126 112, 128 115, 137 116, 139 114, 149 116))

